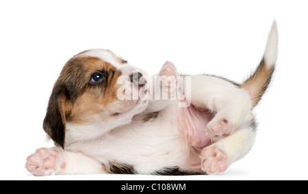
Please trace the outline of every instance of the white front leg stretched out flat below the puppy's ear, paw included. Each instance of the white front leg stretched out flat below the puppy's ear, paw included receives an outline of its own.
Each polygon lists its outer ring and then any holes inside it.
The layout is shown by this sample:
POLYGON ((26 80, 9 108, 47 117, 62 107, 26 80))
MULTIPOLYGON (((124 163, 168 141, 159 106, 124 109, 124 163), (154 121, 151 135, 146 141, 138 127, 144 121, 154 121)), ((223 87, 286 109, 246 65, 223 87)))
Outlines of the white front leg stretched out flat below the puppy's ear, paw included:
POLYGON ((34 176, 55 174, 101 174, 102 165, 81 153, 61 148, 40 148, 27 157, 25 165, 34 176))

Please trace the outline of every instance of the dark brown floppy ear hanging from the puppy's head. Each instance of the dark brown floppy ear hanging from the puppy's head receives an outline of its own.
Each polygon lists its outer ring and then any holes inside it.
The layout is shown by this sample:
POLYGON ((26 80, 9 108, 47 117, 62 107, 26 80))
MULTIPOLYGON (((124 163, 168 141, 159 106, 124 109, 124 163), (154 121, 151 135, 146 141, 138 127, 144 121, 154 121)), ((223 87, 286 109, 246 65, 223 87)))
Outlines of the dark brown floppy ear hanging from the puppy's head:
POLYGON ((49 99, 46 117, 44 118, 44 131, 53 139, 56 146, 65 146, 66 116, 69 112, 70 99, 64 86, 53 88, 49 99))

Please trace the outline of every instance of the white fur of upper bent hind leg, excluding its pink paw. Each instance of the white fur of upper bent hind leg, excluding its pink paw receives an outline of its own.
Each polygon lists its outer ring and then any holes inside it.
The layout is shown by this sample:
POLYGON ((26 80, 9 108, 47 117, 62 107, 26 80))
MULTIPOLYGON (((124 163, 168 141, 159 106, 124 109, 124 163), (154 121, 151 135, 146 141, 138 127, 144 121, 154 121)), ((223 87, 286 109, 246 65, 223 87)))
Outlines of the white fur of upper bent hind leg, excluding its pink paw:
POLYGON ((216 112, 211 122, 224 118, 233 124, 233 128, 238 128, 251 110, 251 100, 247 92, 218 77, 194 76, 191 80, 191 96, 185 92, 187 86, 183 88, 188 101, 193 102, 196 107, 207 107, 216 112))

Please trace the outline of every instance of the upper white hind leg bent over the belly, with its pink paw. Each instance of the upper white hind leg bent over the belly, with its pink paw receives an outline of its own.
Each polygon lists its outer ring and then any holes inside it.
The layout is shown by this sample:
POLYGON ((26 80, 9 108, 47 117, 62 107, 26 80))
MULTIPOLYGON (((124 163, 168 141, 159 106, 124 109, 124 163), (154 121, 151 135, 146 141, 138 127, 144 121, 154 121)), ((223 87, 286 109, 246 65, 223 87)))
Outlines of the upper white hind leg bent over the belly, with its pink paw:
MULTIPOLYGON (((185 83, 185 79, 183 78, 185 83)), ((207 124, 206 135, 213 141, 218 141, 234 132, 251 110, 251 100, 238 85, 224 79, 211 76, 191 77, 191 90, 187 85, 185 97, 194 107, 209 109, 215 116, 207 124)))

